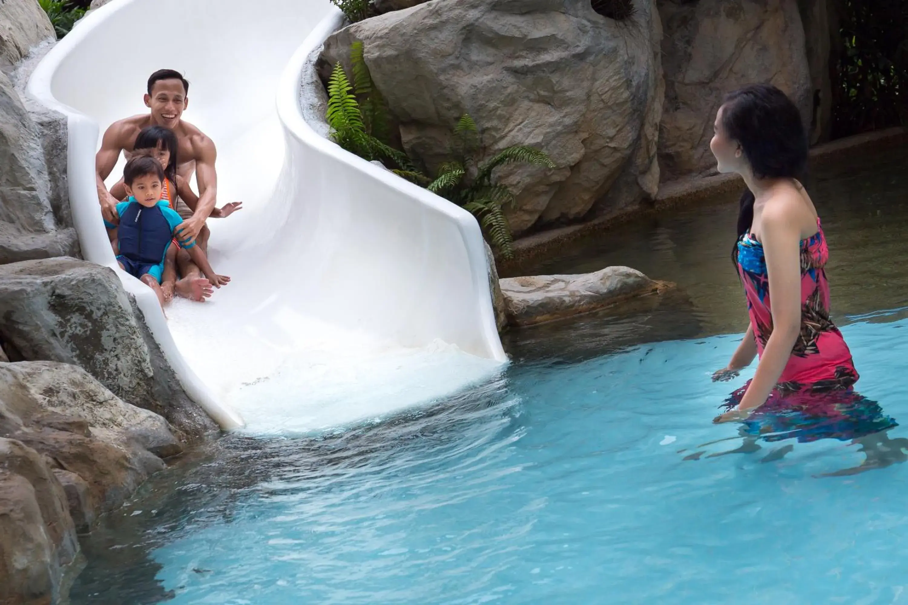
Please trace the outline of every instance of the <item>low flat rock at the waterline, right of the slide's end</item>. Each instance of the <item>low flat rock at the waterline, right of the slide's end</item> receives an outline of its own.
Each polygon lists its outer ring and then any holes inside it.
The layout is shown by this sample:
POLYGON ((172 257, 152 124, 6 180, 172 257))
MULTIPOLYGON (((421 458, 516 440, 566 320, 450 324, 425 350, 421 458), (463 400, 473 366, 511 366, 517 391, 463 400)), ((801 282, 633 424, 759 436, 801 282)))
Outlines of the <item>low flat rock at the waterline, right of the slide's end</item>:
POLYGON ((608 267, 581 275, 538 275, 501 280, 508 320, 517 326, 612 307, 664 287, 665 284, 627 267, 608 267))

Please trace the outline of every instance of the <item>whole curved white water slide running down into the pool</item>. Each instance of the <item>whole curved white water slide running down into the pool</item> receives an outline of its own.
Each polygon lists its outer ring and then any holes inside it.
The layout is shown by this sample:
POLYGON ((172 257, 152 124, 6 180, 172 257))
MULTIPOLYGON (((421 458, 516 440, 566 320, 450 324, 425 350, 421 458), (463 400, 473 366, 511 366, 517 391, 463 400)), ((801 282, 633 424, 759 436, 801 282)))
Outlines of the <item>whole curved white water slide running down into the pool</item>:
MULTIPOLYGON (((69 123, 70 203, 84 258, 116 268, 94 188, 107 126, 147 112, 153 71, 190 82, 183 114, 218 148, 206 303, 119 271, 183 387, 222 428, 275 434, 380 418, 498 371, 479 225, 360 160, 301 112, 307 57, 337 27, 326 0, 114 0, 38 65, 28 93, 69 123)), ((123 160, 108 182, 122 171, 123 160)))

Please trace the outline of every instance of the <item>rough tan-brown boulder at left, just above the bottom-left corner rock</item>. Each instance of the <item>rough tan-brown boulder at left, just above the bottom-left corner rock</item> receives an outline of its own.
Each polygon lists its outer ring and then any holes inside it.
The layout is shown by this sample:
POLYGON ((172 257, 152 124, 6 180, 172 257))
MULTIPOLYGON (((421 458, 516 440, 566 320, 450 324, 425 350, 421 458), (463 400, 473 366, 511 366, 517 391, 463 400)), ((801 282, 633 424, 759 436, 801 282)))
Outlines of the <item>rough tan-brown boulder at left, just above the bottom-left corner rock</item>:
POLYGON ((80 529, 162 470, 162 456, 183 451, 161 416, 50 362, 0 364, 0 436, 49 456, 80 529))

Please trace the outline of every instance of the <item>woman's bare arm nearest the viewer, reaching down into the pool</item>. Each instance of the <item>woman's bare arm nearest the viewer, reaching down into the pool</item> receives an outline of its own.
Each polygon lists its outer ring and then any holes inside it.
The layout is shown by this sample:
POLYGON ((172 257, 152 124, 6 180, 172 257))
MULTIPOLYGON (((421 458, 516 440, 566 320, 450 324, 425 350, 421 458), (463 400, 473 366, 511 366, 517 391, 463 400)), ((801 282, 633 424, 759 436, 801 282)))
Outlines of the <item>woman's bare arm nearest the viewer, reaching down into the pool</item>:
MULTIPOLYGON (((801 331, 801 232, 787 200, 763 214, 763 249, 769 275, 773 333, 737 410, 750 412, 765 404, 792 355, 801 331)), ((735 410, 730 414, 734 414, 735 410)), ((725 419, 725 415, 722 416, 725 419)), ((732 419, 732 418, 727 418, 732 419)))

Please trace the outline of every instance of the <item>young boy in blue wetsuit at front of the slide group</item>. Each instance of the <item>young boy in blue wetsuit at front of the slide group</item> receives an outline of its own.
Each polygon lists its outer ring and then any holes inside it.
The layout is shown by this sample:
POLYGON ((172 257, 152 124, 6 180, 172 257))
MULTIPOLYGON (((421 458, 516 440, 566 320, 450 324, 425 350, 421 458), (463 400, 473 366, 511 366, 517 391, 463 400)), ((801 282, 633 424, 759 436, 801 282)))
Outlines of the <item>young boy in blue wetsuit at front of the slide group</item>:
MULTIPOLYGON (((166 201, 161 200, 163 182, 161 163, 147 155, 137 155, 126 162, 123 170, 123 185, 129 199, 116 205, 116 214, 120 219, 117 226, 117 262, 120 268, 154 290, 162 308, 164 295, 161 277, 164 258, 171 240, 176 237, 174 230, 183 223, 180 215, 166 201)), ((108 229, 114 227, 106 220, 104 224, 108 229)), ((214 273, 208 258, 194 243, 183 246, 180 242, 180 246, 202 269, 212 286, 221 288, 230 281, 230 278, 214 273)))

